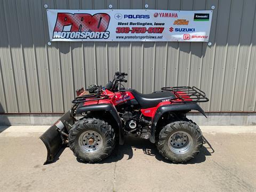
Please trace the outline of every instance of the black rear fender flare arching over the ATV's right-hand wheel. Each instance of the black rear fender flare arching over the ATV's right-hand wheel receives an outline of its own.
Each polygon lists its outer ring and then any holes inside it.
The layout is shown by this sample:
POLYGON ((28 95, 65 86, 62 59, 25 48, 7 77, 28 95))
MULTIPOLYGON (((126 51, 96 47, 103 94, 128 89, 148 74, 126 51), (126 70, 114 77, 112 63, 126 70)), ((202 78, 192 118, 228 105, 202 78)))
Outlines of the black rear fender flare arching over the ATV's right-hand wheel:
POLYGON ((163 105, 158 107, 151 124, 150 142, 152 143, 156 142, 155 141, 156 124, 165 113, 171 112, 171 111, 190 111, 190 110, 197 110, 206 117, 204 110, 199 105, 197 105, 197 103, 172 104, 172 105, 163 105))

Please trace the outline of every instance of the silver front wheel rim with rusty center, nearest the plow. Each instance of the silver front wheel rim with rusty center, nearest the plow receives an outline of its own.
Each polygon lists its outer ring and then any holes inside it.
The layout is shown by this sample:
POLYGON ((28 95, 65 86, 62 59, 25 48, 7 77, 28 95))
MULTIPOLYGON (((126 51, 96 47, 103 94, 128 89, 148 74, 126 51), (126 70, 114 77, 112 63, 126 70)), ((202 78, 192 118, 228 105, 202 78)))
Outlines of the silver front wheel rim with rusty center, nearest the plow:
POLYGON ((96 153, 102 148, 103 141, 99 133, 95 131, 85 131, 79 137, 79 146, 85 153, 96 153))

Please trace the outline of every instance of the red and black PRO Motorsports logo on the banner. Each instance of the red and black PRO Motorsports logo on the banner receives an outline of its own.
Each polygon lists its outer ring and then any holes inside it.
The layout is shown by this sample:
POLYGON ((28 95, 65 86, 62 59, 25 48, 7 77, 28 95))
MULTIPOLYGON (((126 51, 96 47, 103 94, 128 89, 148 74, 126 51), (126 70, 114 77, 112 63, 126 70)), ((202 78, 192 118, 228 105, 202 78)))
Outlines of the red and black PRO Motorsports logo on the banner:
POLYGON ((110 16, 107 13, 58 13, 53 39, 107 39, 110 16))

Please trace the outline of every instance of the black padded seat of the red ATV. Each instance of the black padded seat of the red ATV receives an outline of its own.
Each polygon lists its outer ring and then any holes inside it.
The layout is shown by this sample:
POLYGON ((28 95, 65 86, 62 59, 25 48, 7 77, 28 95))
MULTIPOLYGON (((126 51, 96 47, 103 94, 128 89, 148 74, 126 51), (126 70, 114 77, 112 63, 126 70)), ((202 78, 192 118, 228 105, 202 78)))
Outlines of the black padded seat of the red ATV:
POLYGON ((150 94, 142 94, 132 89, 129 91, 132 92, 133 96, 139 102, 142 109, 156 107, 160 102, 176 98, 171 91, 155 91, 150 94))

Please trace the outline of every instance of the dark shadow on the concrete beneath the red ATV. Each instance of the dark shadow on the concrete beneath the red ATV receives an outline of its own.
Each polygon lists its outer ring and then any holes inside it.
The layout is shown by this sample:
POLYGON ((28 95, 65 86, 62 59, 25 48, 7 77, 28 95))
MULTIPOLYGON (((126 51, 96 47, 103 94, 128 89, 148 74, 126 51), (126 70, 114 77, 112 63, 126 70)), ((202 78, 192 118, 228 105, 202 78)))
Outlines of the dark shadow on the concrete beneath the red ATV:
MULTIPOLYGON (((127 155, 127 160, 129 160, 133 157, 133 151, 135 150, 142 150, 145 155, 152 156, 152 158, 155 157, 158 161, 171 163, 167 161, 161 154, 158 153, 158 150, 153 143, 151 143, 148 140, 142 140, 134 137, 126 137, 123 146, 116 146, 110 157, 106 158, 105 160, 99 163, 101 164, 117 162, 123 159, 124 155, 127 155)), ((206 156, 211 156, 212 153, 214 153, 214 149, 212 148, 211 144, 205 138, 203 138, 203 146, 200 150, 200 153, 194 159, 191 159, 189 162, 184 164, 202 163, 205 161, 206 156)), ((77 161, 79 163, 85 163, 79 160, 78 158, 77 161)))

